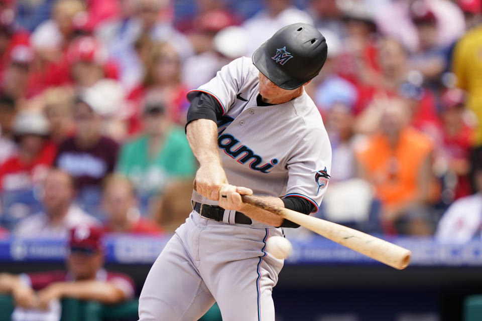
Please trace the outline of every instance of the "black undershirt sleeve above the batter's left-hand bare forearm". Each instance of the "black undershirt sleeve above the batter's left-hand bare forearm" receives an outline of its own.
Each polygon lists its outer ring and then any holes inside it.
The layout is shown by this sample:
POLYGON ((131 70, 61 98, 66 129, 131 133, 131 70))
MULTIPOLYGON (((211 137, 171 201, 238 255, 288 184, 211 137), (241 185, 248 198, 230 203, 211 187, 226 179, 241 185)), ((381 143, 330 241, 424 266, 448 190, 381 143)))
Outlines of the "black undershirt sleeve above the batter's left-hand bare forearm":
POLYGON ((187 124, 196 119, 211 119, 216 122, 222 116, 222 107, 213 96, 199 91, 191 100, 187 111, 187 124))

